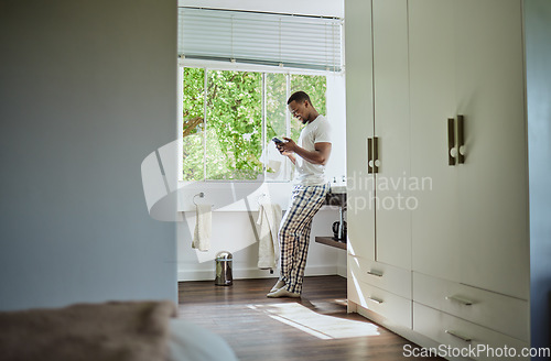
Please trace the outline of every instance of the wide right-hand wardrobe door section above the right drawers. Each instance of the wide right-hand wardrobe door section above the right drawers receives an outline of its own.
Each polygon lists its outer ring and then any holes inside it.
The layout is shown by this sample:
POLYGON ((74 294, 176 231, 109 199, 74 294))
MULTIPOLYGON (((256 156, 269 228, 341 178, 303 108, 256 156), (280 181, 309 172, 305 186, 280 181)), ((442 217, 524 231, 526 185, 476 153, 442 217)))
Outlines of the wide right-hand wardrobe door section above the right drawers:
POLYGON ((413 214, 413 270, 526 299, 521 21, 519 0, 410 1, 412 174, 433 186, 413 214), (458 116, 465 160, 449 165, 458 116))

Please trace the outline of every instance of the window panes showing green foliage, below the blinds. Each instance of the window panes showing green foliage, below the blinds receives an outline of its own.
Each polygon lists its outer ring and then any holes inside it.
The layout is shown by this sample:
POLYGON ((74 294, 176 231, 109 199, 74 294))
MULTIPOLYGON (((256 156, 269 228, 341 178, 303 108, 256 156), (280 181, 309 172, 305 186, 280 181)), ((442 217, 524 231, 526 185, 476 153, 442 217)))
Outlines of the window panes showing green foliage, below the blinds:
POLYGON ((287 99, 306 91, 326 113, 324 75, 181 68, 183 180, 289 180, 291 162, 271 139, 298 140, 287 99))

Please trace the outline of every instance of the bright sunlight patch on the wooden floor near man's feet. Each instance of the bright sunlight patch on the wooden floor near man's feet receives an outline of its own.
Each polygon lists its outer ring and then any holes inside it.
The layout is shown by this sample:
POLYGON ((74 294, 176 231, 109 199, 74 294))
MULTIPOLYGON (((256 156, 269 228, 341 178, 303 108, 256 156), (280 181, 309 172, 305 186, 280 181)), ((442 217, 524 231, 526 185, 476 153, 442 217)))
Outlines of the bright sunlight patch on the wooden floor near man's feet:
POLYGON ((295 303, 248 307, 323 340, 379 335, 378 327, 374 324, 321 315, 295 303))

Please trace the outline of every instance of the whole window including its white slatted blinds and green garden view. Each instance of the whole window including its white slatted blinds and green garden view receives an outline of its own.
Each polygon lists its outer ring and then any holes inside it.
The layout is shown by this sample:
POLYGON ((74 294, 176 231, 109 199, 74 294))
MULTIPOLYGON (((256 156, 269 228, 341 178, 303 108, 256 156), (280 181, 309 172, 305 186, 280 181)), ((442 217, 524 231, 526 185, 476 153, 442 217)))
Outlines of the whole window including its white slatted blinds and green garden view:
POLYGON ((290 180, 271 139, 298 140, 287 110, 295 90, 327 114, 325 75, 343 70, 342 43, 342 19, 179 8, 181 179, 290 180))

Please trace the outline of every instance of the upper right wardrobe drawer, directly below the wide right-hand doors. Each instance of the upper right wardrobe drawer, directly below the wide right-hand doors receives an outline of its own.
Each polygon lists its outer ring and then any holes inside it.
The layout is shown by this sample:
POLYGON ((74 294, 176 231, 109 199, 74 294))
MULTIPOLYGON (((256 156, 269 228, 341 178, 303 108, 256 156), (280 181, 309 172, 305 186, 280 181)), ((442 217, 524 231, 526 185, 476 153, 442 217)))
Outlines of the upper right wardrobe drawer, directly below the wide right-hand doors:
POLYGON ((519 340, 529 340, 526 300, 417 272, 413 272, 413 300, 519 340))

